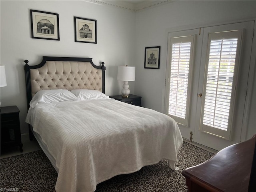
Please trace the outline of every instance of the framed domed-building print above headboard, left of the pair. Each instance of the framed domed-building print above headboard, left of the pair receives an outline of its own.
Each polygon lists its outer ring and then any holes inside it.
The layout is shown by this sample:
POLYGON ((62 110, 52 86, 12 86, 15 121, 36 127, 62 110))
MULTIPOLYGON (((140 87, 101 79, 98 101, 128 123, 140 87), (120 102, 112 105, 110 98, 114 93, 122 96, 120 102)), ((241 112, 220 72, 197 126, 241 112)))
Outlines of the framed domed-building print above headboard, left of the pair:
POLYGON ((32 38, 60 40, 59 14, 30 10, 30 19, 32 38))

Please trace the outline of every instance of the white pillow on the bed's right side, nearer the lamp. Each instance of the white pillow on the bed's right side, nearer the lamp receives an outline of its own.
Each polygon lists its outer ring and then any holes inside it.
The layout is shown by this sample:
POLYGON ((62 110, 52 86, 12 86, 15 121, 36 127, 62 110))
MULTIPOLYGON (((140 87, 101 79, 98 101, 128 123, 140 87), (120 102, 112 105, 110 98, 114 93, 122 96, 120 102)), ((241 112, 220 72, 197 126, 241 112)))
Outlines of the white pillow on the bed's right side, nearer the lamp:
POLYGON ((92 89, 74 89, 71 90, 72 94, 78 97, 79 100, 85 99, 109 99, 109 96, 106 96, 104 93, 98 90, 92 89))

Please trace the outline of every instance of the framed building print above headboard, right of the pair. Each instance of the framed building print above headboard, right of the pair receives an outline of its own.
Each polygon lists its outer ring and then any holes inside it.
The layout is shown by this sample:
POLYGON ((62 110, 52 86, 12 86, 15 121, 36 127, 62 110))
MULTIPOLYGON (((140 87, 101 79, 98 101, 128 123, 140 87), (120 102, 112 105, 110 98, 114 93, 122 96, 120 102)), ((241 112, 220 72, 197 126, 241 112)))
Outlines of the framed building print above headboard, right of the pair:
POLYGON ((75 18, 75 42, 97 43, 97 21, 80 17, 75 18))

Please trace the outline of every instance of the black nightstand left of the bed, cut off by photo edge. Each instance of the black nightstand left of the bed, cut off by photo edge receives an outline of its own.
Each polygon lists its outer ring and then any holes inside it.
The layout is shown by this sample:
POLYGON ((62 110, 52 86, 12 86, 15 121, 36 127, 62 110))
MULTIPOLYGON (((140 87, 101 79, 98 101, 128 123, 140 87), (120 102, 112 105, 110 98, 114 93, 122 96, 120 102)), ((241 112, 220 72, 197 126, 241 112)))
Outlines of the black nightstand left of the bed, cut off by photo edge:
POLYGON ((1 107, 1 151, 6 147, 19 146, 23 152, 19 112, 17 106, 1 107))

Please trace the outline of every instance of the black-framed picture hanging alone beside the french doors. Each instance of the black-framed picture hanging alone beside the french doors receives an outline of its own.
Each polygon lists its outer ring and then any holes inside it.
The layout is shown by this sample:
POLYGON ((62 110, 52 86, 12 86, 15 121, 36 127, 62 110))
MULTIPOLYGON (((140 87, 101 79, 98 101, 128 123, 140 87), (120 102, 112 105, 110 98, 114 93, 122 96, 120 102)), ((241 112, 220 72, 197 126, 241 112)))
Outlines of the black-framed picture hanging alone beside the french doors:
POLYGON ((160 64, 160 46, 145 47, 145 69, 159 69, 160 64))

